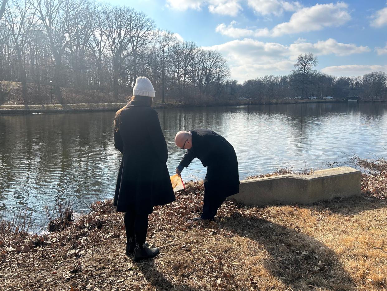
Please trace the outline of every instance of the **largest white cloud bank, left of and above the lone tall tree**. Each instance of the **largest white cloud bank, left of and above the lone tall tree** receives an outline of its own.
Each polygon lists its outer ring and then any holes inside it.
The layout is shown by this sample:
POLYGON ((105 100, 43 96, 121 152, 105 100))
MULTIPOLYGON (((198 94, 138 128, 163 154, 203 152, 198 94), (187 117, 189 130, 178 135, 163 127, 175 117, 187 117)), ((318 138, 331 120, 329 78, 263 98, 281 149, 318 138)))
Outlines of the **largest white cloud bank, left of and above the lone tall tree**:
POLYGON ((219 51, 228 60, 231 78, 238 81, 266 74, 289 74, 293 69, 295 59, 301 53, 313 52, 317 56, 349 55, 370 50, 368 47, 339 43, 332 38, 317 43, 308 43, 303 39, 298 39, 291 45, 245 38, 212 47, 203 47, 203 49, 219 51))

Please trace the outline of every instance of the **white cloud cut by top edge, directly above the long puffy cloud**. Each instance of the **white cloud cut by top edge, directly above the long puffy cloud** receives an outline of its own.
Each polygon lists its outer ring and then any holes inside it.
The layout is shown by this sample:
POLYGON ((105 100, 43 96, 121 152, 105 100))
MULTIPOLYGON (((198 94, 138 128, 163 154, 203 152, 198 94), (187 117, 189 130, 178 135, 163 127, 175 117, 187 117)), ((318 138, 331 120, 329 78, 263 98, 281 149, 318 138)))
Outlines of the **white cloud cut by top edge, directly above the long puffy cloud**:
POLYGON ((284 11, 296 11, 302 7, 298 1, 287 2, 283 0, 248 0, 247 4, 259 14, 274 14, 276 16, 281 15, 284 11))

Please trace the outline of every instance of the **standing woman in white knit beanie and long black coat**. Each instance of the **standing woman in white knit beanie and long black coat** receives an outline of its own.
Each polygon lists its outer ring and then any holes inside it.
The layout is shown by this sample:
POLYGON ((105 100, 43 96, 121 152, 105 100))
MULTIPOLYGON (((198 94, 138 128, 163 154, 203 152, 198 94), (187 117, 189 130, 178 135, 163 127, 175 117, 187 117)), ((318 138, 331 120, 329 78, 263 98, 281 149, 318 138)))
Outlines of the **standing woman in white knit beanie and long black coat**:
POLYGON ((136 261, 159 253, 145 242, 153 207, 175 201, 166 141, 157 112, 151 108, 154 94, 151 82, 138 77, 131 101, 117 111, 114 121, 114 145, 123 153, 114 206, 125 212, 126 253, 134 252, 136 261))

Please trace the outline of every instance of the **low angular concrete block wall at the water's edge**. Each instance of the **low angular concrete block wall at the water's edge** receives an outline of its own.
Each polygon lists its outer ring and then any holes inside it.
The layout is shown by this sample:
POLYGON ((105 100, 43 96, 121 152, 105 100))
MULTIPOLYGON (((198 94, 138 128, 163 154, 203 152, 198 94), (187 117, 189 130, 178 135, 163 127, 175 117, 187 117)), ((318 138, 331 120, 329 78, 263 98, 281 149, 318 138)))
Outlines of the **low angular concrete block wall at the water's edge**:
POLYGON ((245 205, 312 204, 334 197, 360 195, 361 171, 339 167, 313 175, 281 175, 242 180, 239 193, 229 196, 245 205))

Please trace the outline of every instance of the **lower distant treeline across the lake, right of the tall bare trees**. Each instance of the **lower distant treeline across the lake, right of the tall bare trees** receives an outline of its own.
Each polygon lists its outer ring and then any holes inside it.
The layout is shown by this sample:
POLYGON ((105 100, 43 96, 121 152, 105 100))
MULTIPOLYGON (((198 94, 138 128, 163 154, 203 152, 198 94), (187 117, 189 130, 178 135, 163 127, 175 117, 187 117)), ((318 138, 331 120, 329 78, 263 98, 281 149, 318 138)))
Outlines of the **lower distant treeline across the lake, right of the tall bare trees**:
POLYGON ((257 98, 260 101, 282 100, 286 97, 300 96, 325 97, 335 99, 346 97, 361 97, 364 99, 386 98, 386 73, 372 72, 363 76, 336 77, 312 70, 302 76, 299 71, 292 71, 286 76, 264 76, 254 80, 247 80, 242 85, 234 81, 227 81, 228 94, 257 98))

